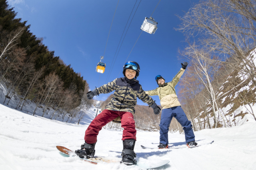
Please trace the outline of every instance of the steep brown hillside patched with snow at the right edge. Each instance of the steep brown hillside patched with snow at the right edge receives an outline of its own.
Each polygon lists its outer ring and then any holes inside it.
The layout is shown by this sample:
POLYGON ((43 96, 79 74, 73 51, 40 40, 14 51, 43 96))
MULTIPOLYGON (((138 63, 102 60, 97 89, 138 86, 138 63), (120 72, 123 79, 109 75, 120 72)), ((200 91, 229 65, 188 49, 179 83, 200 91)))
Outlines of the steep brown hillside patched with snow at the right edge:
MULTIPOLYGON (((252 50, 247 58, 252 65, 255 65, 256 49, 252 50)), ((246 66, 242 70, 235 69, 216 93, 216 101, 219 105, 219 110, 216 111, 218 127, 233 127, 242 125, 247 121, 256 121, 256 86, 245 70, 246 66)), ((205 110, 200 109, 200 122, 198 123, 198 119, 195 119, 196 126, 199 126, 201 122, 205 123, 206 112, 210 117, 210 124, 214 125, 211 102, 206 103, 206 105, 205 110)))

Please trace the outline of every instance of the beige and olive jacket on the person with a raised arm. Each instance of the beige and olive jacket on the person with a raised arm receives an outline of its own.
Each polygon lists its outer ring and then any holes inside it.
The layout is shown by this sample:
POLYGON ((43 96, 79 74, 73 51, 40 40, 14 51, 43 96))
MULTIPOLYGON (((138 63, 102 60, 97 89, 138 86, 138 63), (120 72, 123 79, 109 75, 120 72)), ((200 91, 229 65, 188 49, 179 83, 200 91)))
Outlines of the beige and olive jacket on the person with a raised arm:
POLYGON ((149 96, 158 95, 160 99, 160 104, 163 109, 167 109, 170 107, 180 106, 180 102, 178 101, 178 97, 176 95, 175 86, 178 84, 180 77, 184 73, 184 69, 180 68, 180 71, 176 76, 172 79, 171 82, 160 84, 158 88, 155 90, 145 91, 149 96))

